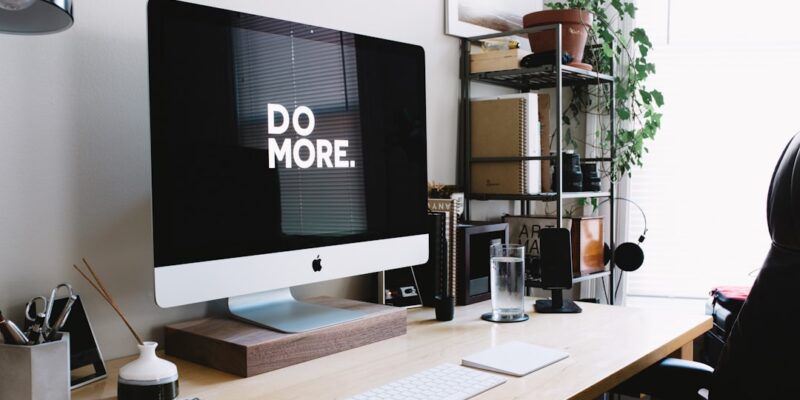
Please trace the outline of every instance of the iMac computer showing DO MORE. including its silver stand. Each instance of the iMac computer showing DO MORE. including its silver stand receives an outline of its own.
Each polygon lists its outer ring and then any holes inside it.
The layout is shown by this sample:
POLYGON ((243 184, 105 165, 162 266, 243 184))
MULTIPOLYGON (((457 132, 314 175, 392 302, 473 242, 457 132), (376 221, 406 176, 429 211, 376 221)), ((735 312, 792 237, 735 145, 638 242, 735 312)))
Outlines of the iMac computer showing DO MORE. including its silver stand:
POLYGON ((421 47, 148 4, 156 302, 299 332, 360 317, 291 286, 428 258, 421 47))

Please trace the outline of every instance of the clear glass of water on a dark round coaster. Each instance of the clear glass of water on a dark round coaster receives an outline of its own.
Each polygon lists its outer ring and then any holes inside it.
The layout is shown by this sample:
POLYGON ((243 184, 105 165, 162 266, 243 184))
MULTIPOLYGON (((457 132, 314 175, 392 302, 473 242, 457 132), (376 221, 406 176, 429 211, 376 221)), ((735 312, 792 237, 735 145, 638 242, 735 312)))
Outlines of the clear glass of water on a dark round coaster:
POLYGON ((495 322, 525 321, 525 246, 493 244, 489 247, 492 312, 483 319, 495 322))

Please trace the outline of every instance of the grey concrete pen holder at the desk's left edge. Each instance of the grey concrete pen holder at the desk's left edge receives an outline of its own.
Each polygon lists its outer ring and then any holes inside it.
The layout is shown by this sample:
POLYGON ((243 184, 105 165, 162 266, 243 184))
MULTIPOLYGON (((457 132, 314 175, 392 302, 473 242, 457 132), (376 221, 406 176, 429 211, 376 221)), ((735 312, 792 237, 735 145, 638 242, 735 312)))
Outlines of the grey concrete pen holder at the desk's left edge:
POLYGON ((69 398, 68 333, 35 346, 0 344, 0 399, 69 398))

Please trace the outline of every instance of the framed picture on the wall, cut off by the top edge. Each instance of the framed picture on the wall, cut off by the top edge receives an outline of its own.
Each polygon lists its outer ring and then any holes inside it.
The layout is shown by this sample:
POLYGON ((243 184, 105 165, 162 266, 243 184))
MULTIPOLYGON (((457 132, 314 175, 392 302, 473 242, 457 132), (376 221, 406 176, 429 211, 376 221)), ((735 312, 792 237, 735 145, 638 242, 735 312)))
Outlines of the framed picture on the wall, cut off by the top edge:
POLYGON ((522 29, 522 16, 543 5, 544 0, 445 0, 445 33, 471 37, 522 29))

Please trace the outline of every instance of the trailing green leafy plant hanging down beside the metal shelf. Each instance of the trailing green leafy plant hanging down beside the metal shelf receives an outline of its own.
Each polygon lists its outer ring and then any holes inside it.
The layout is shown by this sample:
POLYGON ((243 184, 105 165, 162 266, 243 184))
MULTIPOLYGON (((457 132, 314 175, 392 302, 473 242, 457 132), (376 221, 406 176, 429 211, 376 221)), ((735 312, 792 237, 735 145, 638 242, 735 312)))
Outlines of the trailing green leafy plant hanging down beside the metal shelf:
MULTIPOLYGON (((647 153, 647 141, 652 140, 661 127, 659 108, 664 97, 658 90, 646 86, 647 78, 656 72, 648 61, 653 45, 642 28, 625 32, 625 19, 633 19, 636 6, 625 0, 564 0, 545 4, 550 9, 583 9, 594 15, 589 30, 586 62, 604 74, 615 76, 614 98, 611 99, 608 85, 592 88, 581 86, 573 90, 570 104, 563 111, 567 126, 565 140, 577 142, 571 127, 577 125, 578 117, 584 113, 610 115, 611 102, 616 113, 616 139, 614 170, 604 173, 613 180, 623 174, 630 175, 634 166, 642 166, 642 157, 647 153)), ((595 132, 600 153, 609 154, 611 129, 606 121, 600 123, 595 132)), ((588 145, 588 144, 587 144, 588 145)))

